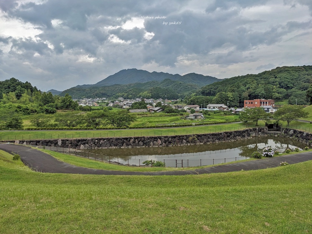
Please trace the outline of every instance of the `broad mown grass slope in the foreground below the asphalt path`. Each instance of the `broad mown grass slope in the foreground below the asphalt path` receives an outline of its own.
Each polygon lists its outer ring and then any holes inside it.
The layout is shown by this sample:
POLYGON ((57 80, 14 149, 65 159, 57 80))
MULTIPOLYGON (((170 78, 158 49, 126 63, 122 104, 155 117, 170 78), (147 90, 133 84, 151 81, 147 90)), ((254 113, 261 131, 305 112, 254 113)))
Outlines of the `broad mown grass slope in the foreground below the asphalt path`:
POLYGON ((2 233, 310 233, 312 161, 189 176, 29 171, 0 151, 2 233))

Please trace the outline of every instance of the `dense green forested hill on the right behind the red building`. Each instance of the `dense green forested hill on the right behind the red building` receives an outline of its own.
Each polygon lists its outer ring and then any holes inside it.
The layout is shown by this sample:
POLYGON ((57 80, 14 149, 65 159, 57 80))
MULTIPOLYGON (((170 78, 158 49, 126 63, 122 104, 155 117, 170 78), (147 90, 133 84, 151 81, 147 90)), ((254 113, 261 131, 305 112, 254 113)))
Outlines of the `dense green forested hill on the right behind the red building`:
MULTIPOLYGON (((312 66, 283 66, 259 74, 236 76, 206 85, 198 95, 227 96, 242 103, 252 99, 289 99, 290 104, 307 103, 306 90, 312 83, 312 66)), ((236 101, 234 101, 236 103, 236 101)))

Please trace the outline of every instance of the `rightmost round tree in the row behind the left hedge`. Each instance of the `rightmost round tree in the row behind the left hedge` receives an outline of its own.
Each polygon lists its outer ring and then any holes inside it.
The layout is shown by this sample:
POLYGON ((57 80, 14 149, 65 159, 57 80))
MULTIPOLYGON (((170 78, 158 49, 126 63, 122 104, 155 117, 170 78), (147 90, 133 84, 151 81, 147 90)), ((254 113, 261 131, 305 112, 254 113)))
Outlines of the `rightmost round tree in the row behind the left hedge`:
POLYGON ((118 110, 110 112, 107 116, 107 121, 114 127, 129 127, 136 119, 135 115, 131 115, 128 110, 118 110))

